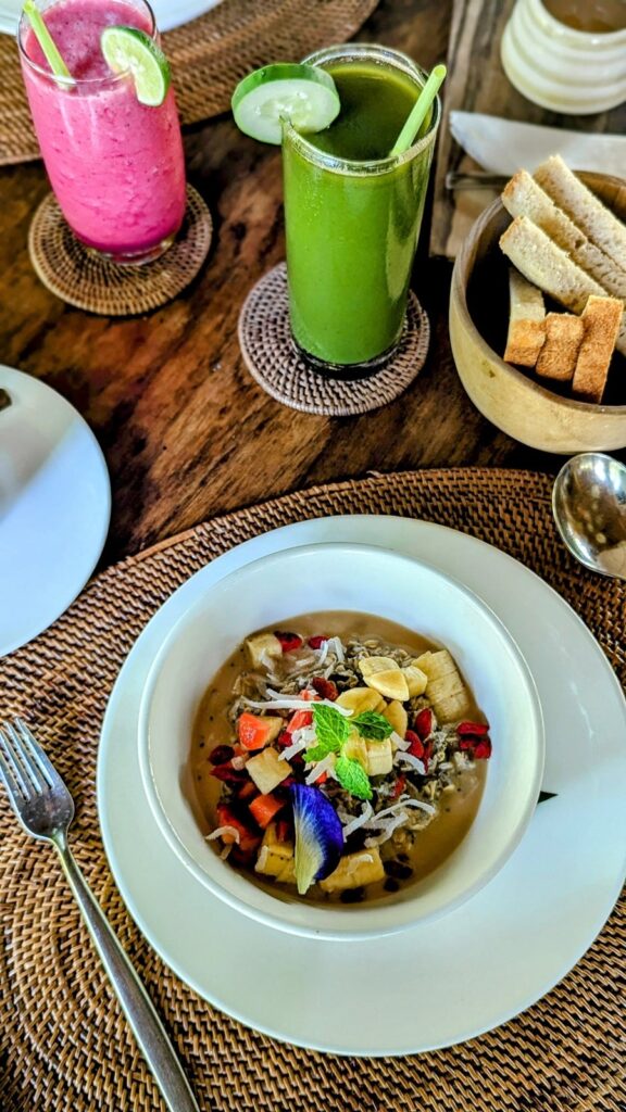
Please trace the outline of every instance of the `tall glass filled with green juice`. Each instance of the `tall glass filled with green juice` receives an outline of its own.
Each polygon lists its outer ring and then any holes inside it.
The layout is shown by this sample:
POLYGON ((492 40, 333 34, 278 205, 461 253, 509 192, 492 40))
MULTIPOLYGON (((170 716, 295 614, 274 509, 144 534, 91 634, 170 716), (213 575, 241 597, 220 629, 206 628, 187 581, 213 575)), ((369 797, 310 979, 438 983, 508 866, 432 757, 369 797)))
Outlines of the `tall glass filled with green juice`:
POLYGON ((349 43, 305 59, 332 76, 341 99, 316 135, 283 126, 292 336, 323 374, 371 374, 404 322, 434 138, 437 100, 413 146, 392 149, 427 75, 387 47, 349 43))

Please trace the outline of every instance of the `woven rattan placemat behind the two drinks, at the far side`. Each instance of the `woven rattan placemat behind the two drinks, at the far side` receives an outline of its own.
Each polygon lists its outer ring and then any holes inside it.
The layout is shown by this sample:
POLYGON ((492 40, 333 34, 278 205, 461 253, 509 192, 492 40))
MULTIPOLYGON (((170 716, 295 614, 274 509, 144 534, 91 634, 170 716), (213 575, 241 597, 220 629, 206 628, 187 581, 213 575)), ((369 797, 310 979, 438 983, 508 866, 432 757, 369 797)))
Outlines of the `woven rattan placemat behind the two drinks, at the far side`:
MULTIPOLYGON (((237 81, 267 62, 345 42, 378 0, 222 0, 164 34, 182 123, 228 111, 237 81)), ((0 34, 0 166, 39 158, 14 39, 0 34)))

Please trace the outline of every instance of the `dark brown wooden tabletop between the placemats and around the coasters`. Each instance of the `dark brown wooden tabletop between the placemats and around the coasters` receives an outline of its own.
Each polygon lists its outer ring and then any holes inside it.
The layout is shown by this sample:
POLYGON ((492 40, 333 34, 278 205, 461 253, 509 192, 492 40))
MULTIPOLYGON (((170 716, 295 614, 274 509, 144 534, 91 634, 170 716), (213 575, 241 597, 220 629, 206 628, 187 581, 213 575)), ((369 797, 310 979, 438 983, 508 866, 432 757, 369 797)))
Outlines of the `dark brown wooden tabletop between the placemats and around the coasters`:
MULTIPOLYGON (((450 17, 451 0, 381 0, 358 38, 430 68, 446 58, 450 17)), ((49 188, 42 166, 0 170, 0 359, 68 398, 102 447, 113 519, 100 566, 221 512, 371 469, 558 470, 561 457, 511 440, 466 396, 448 336, 451 266, 428 259, 426 227, 413 285, 432 341, 409 391, 341 419, 265 395, 245 369, 237 318, 254 282, 284 257, 280 151, 227 117, 187 131, 185 148, 188 178, 214 216, 214 244, 195 282, 140 318, 90 316, 47 291, 27 252, 49 188)))

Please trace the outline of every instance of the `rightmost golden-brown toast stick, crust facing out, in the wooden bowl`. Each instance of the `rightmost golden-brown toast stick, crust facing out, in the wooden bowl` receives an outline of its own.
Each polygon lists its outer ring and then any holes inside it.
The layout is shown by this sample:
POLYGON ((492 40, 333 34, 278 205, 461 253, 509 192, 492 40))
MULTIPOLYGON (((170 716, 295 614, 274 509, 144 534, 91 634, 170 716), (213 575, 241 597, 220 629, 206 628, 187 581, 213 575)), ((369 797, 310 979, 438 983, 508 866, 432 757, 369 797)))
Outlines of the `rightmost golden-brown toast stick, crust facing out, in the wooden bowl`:
POLYGON ((617 298, 591 296, 587 301, 580 318, 585 335, 571 383, 571 393, 584 401, 603 399, 623 311, 617 298))

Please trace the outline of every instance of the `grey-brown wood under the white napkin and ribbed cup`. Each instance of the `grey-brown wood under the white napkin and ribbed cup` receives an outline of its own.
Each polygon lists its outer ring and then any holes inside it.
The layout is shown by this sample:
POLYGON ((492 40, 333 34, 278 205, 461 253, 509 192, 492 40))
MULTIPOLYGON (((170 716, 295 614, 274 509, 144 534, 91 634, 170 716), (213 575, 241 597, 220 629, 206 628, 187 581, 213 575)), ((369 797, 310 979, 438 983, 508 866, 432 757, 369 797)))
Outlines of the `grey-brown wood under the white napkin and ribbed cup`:
MULTIPOLYGON (((500 61, 500 41, 515 0, 453 0, 449 77, 439 139, 434 203, 431 226, 431 251, 454 258, 472 222, 498 196, 497 190, 479 189, 451 192, 446 189, 449 170, 471 172, 480 167, 459 147, 449 127, 454 109, 485 112, 525 123, 539 123, 574 131, 623 135, 626 130, 626 105, 593 116, 563 116, 527 100, 508 80, 500 61)), ((593 170, 594 167, 585 167, 593 170)))

